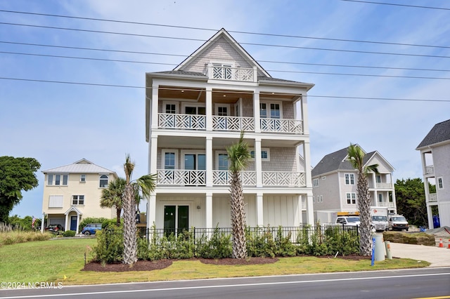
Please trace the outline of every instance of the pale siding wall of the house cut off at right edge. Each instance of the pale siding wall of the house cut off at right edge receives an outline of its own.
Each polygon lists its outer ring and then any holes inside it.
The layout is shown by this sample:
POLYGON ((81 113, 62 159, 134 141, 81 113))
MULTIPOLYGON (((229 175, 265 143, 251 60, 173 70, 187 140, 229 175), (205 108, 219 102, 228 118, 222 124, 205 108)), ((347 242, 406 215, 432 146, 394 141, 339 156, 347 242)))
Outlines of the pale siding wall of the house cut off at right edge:
MULTIPOLYGON (((435 166, 435 178, 442 178, 444 189, 436 187, 437 199, 439 203, 450 202, 450 144, 433 147, 433 161, 435 166)), ((446 215, 450 217, 450 213, 446 210, 446 215)), ((439 218, 445 217, 443 211, 439 208, 439 218)), ((446 222, 450 223, 450 222, 446 222)))

